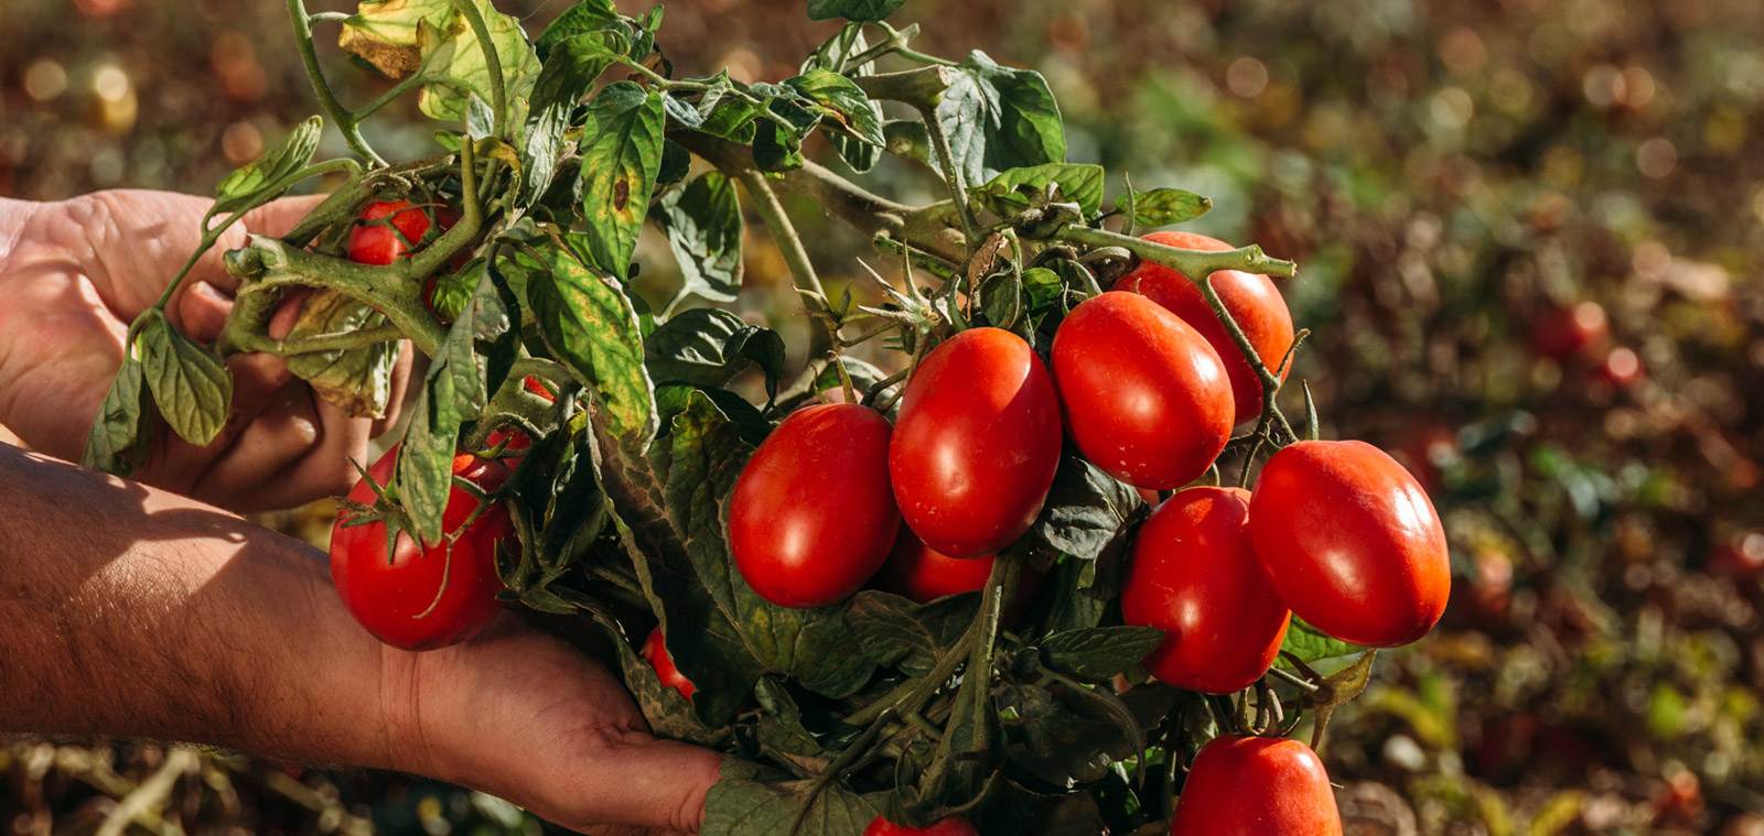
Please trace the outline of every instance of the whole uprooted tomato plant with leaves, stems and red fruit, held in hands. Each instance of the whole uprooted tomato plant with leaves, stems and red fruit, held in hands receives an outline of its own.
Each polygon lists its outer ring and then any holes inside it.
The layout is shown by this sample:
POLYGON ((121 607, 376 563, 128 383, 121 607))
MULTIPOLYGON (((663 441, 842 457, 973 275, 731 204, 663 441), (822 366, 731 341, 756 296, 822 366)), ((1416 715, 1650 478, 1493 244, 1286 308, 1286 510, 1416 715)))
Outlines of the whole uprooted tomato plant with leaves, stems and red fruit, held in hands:
POLYGON ((1108 173, 1067 162, 1041 74, 919 53, 880 19, 896 5, 810 4, 847 23, 797 74, 750 83, 677 78, 660 7, 579 0, 529 41, 483 0, 295 0, 348 153, 314 162, 321 120, 298 125, 219 185, 205 249, 300 183, 330 196, 224 254, 240 291, 213 344, 164 303, 141 316, 88 464, 127 473, 159 425, 210 443, 240 353, 386 416, 407 346, 427 358, 411 420, 379 490, 355 494, 372 517, 337 531, 339 594, 386 640, 459 640, 499 601, 602 630, 649 727, 723 755, 711 836, 1164 829, 1166 765, 1275 716, 1321 730, 1358 693, 1305 667, 1358 651, 1316 630, 1427 630, 1438 520, 1394 464, 1342 469, 1318 450, 1357 446, 1300 441, 1321 420, 1282 388, 1293 328, 1268 284, 1293 263, 1132 235, 1210 203, 1104 206, 1108 173), (344 108, 314 25, 400 81, 344 108), (437 132, 388 160, 362 127, 404 93, 437 132), (884 155, 935 199, 866 189, 884 155), (829 293, 801 199, 863 233, 875 280, 829 293), (646 226, 677 284, 637 263, 646 226), (767 261, 746 242, 778 245, 806 347, 736 310, 744 265, 767 261), (272 339, 284 302, 298 323, 272 339), (397 607, 362 603, 393 578, 397 607), (1282 640, 1286 607, 1311 626, 1282 640), (633 646, 637 623, 660 626, 633 646), (1297 661, 1268 668, 1282 647, 1297 661))

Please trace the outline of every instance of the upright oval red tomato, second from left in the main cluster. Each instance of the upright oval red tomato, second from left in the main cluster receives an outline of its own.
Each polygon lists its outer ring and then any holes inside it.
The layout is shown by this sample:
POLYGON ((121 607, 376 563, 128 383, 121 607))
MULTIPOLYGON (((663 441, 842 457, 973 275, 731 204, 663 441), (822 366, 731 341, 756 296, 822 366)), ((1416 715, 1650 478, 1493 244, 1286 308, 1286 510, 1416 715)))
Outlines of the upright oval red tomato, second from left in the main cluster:
POLYGON ((900 400, 889 476, 900 515, 951 557, 1028 531, 1060 466, 1060 402, 1041 358, 998 328, 931 349, 900 400))

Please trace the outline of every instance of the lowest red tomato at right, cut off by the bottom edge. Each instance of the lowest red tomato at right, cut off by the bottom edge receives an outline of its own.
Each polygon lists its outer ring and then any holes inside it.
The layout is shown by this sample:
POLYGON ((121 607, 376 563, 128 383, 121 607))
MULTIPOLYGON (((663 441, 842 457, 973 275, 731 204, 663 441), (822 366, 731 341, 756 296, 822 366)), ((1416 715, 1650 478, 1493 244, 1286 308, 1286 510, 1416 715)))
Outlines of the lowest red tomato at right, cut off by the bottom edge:
POLYGON ((1194 757, 1170 836, 1341 836, 1341 811, 1311 746, 1222 734, 1194 757))

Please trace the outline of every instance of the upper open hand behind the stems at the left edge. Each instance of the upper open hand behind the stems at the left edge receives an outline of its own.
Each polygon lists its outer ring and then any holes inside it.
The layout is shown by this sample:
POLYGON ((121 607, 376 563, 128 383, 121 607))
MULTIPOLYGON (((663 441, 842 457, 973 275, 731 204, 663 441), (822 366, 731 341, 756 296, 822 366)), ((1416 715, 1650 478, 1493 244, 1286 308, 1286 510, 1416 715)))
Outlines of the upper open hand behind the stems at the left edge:
MULTIPOLYGON (((247 233, 284 233, 318 199, 284 198, 228 229, 173 295, 171 325, 212 342, 238 289, 220 254, 242 247, 247 233)), ((210 205, 153 190, 0 201, 0 425, 37 450, 79 460, 122 365, 129 323, 196 250, 210 205)), ((196 446, 159 427, 136 480, 229 510, 289 508, 349 490, 356 478, 349 460, 363 460, 369 437, 397 418, 349 418, 314 397, 280 358, 236 355, 228 369, 231 414, 213 441, 196 446)), ((392 404, 402 397, 407 369, 409 353, 395 372, 392 404)))

